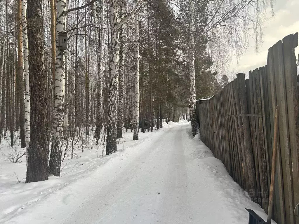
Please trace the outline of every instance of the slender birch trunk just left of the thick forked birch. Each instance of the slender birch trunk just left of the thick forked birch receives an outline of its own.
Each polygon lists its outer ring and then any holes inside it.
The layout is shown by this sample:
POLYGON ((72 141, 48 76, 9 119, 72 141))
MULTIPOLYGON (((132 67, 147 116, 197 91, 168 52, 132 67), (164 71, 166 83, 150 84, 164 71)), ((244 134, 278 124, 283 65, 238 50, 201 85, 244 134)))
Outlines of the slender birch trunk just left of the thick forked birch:
MULTIPOLYGON (((94 3, 96 7, 96 2, 94 3)), ((100 132, 103 127, 103 50, 104 50, 104 7, 103 0, 100 0, 100 40, 99 46, 97 46, 97 121, 94 137, 97 138, 97 143, 100 138, 100 132)), ((97 40, 97 29, 95 30, 96 42, 97 40)))

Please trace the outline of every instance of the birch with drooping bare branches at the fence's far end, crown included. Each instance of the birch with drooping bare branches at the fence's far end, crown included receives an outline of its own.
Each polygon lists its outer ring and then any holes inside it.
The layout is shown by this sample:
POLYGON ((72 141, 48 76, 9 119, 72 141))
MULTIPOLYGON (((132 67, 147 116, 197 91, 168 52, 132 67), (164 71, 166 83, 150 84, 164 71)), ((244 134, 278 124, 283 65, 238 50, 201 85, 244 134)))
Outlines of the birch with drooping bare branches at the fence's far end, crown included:
POLYGON ((263 41, 261 24, 265 18, 266 7, 269 5, 272 7, 272 1, 184 0, 179 2, 181 8, 178 19, 187 21, 189 24, 184 31, 188 35, 189 42, 189 108, 192 134, 195 135, 198 130, 195 113, 195 45, 200 44, 201 38, 205 37, 208 38, 209 44, 216 45, 221 51, 233 52, 239 56, 248 47, 248 35, 252 32, 258 46, 263 41))

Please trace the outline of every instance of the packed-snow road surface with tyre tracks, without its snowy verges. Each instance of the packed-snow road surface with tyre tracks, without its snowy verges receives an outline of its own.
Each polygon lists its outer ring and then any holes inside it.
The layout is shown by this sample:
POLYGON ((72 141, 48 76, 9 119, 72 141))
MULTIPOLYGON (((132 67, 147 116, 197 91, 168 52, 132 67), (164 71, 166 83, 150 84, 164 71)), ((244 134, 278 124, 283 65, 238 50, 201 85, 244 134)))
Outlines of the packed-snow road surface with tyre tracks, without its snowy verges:
POLYGON ((192 222, 197 209, 188 189, 186 128, 176 126, 156 139, 61 223, 192 222))

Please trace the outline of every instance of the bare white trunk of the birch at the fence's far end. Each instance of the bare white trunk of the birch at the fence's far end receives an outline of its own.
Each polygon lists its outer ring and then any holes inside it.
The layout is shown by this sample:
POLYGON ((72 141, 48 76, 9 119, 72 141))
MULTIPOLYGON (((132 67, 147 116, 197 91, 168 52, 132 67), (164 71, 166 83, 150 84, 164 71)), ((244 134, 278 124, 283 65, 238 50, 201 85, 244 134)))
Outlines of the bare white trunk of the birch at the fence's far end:
POLYGON ((191 115, 191 126, 192 126, 192 134, 195 136, 198 130, 198 122, 196 119, 196 93, 195 93, 195 67, 194 67, 194 21, 193 21, 193 10, 194 3, 191 0, 189 2, 189 66, 190 66, 190 115, 191 115))

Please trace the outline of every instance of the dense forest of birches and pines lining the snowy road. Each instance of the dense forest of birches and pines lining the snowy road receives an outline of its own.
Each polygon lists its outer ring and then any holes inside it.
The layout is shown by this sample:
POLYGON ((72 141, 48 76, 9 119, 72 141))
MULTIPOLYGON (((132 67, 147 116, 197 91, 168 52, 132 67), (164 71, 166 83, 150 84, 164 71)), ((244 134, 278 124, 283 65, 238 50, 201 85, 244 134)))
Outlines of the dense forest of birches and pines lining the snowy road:
POLYGON ((138 140, 186 114, 195 135, 196 98, 229 81, 207 48, 238 54, 248 30, 261 42, 261 3, 0 0, 0 144, 26 148, 12 162, 27 157, 34 182, 60 176, 78 141, 111 154, 124 130, 138 140))

